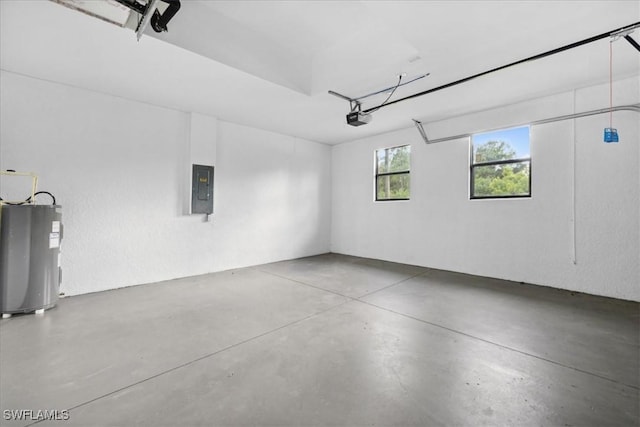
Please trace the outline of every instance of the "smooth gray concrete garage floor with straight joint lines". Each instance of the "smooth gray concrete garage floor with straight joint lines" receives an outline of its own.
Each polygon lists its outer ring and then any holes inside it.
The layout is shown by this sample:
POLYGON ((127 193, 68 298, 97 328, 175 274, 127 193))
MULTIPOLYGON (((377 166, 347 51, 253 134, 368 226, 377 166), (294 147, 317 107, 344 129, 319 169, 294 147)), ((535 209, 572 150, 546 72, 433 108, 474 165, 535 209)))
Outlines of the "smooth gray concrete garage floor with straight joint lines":
POLYGON ((0 423, 637 426, 639 340, 638 303, 322 255, 0 321, 0 423))

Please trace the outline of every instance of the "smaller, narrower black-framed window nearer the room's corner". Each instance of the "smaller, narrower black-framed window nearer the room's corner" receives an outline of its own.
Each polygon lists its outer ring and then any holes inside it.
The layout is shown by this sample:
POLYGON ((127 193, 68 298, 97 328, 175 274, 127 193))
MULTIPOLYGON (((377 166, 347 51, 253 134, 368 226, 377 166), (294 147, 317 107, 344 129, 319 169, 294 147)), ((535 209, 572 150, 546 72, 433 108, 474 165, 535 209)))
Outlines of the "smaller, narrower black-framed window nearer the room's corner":
POLYGON ((376 201, 409 200, 411 146, 376 150, 376 201))

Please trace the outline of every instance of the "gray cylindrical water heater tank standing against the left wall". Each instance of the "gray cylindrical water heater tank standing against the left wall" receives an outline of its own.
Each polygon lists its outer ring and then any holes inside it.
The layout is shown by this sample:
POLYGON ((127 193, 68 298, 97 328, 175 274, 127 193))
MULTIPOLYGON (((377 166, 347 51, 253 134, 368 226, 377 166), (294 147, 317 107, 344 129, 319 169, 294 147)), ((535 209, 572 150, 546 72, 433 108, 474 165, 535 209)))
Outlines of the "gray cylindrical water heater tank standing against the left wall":
POLYGON ((0 207, 0 312, 53 307, 60 288, 60 206, 0 207))

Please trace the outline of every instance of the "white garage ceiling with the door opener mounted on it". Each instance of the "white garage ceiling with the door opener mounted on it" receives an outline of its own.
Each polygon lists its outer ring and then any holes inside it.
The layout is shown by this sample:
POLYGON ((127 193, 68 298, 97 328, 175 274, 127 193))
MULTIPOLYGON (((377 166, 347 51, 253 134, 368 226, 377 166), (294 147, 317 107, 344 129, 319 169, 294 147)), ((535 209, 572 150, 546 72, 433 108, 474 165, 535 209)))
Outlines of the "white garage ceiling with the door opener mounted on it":
MULTIPOLYGON (((640 21, 637 0, 183 0, 169 32, 137 41, 52 1, 0 7, 3 70, 327 144, 607 82, 610 42, 386 106, 360 127, 329 90, 355 98, 430 73, 398 99, 640 21)), ((632 36, 640 42, 640 29, 632 36)), ((640 75, 640 52, 624 39, 613 70, 640 75)))

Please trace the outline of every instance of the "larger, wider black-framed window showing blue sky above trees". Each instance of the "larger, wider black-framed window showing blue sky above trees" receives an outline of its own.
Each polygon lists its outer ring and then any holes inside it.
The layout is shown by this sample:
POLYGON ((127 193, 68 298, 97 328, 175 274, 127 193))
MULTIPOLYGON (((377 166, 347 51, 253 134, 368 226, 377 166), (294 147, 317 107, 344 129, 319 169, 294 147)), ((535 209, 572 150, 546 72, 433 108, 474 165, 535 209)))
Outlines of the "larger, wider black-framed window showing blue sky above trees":
POLYGON ((530 197, 529 126, 471 137, 472 199, 530 197))

